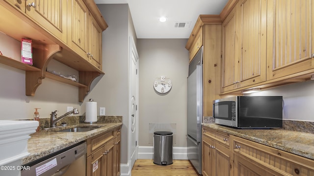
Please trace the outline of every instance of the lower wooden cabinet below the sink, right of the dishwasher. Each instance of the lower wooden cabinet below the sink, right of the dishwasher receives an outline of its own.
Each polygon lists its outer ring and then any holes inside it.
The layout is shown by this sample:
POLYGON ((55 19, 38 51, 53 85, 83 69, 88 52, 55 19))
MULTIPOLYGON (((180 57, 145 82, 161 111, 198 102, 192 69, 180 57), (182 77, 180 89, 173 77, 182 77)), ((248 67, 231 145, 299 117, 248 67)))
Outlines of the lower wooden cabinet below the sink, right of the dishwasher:
POLYGON ((120 176, 120 129, 87 140, 86 176, 120 176))

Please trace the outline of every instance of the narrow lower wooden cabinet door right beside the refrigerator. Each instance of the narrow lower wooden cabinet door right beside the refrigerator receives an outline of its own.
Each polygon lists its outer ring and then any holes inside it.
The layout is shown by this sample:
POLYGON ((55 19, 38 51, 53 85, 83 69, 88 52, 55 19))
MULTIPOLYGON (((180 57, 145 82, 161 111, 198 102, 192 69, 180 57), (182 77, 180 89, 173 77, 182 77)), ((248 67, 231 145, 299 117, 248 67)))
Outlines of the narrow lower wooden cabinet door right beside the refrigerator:
POLYGON ((203 176, 214 176, 211 173, 214 171, 213 151, 211 146, 214 145, 214 141, 208 137, 203 137, 202 141, 202 174, 203 176))

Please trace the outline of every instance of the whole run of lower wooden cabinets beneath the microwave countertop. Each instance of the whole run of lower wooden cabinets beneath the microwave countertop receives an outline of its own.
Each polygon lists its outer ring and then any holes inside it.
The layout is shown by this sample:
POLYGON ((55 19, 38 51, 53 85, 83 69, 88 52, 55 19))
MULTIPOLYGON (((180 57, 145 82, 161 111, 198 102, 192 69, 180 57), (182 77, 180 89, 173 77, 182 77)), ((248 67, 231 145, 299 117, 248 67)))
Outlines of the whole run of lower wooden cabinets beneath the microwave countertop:
POLYGON ((314 176, 314 160, 203 126, 202 174, 314 176))

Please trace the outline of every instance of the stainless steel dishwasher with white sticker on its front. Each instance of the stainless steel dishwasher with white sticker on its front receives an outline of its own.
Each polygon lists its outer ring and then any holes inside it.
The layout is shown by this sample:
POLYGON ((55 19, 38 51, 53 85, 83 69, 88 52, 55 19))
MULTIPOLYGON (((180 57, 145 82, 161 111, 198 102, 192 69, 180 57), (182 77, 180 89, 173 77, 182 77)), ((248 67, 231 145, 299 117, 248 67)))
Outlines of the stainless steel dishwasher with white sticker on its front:
POLYGON ((21 176, 86 176, 86 142, 37 159, 24 166, 21 176))

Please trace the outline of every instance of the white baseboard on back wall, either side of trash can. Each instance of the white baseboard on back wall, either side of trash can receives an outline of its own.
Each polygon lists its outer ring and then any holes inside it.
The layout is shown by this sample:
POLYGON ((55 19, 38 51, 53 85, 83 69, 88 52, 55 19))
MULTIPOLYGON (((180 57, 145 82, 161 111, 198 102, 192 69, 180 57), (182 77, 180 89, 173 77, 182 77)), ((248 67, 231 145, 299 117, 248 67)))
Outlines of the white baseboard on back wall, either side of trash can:
MULTIPOLYGON (((154 147, 153 146, 138 146, 137 159, 153 159, 154 147)), ((172 159, 188 159, 187 147, 173 147, 172 159)))

